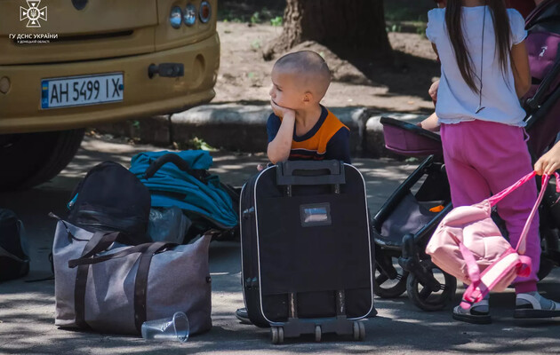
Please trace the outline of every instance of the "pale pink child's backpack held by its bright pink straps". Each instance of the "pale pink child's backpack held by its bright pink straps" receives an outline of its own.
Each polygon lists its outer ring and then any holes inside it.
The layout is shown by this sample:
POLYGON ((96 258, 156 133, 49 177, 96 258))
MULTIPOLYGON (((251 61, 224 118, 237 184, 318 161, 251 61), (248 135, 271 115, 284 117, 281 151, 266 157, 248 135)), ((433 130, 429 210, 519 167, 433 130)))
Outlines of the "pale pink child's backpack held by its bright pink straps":
MULTIPOLYGON (((468 309, 470 304, 482 300, 491 289, 503 291, 516 276, 530 274, 531 258, 524 256, 525 237, 550 177, 542 177, 543 188, 515 249, 501 235, 500 229, 492 221, 491 212, 492 206, 535 175, 533 171, 516 184, 480 203, 452 209, 428 241, 426 253, 431 256, 432 262, 469 285, 461 307, 468 309)), ((560 185, 557 184, 558 188, 560 185)))

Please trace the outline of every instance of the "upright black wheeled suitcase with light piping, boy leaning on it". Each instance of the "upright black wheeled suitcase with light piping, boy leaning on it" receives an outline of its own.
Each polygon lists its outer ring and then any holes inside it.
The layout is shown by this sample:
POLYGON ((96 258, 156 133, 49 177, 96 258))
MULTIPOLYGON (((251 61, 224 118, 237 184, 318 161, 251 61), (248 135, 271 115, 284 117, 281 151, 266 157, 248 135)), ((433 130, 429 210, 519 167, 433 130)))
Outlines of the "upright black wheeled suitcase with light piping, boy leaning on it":
POLYGON ((364 177, 338 161, 282 162, 243 187, 242 283, 252 323, 273 343, 322 333, 365 336, 375 315, 364 177))

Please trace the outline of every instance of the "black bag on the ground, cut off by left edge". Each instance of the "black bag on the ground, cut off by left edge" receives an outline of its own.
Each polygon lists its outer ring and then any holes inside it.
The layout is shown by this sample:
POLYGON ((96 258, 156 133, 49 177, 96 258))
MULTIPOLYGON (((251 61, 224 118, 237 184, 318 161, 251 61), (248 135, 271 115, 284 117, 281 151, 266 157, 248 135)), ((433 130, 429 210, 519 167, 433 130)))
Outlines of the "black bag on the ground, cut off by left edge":
POLYGON ((0 209, 0 281, 23 277, 29 272, 27 245, 20 219, 10 209, 0 209))

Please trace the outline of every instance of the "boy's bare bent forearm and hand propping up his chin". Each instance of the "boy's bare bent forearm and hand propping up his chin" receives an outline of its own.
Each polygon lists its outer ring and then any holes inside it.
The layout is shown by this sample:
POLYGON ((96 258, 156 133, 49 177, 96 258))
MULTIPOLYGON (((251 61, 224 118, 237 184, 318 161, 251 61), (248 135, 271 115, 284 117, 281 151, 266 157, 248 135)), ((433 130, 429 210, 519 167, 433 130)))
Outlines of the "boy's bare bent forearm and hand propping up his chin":
POLYGON ((268 143, 267 155, 270 162, 284 162, 290 157, 292 149, 293 128, 295 125, 295 111, 277 106, 270 102, 272 110, 278 117, 282 117, 282 123, 276 133, 276 137, 268 143))

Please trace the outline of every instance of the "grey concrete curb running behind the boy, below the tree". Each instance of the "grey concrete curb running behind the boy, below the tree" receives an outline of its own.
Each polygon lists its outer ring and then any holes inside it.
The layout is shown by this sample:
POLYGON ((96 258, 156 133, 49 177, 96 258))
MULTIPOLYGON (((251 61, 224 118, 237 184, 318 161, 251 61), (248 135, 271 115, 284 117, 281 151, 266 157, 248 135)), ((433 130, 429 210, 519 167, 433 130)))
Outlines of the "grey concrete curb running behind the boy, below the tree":
MULTIPOLYGON (((330 107, 350 129, 350 151, 354 156, 396 157, 384 146, 380 117, 388 115, 419 122, 426 115, 380 113, 365 107, 330 107)), ((138 138, 156 146, 185 146, 203 139, 210 146, 229 151, 264 152, 267 146, 269 106, 240 104, 204 105, 171 115, 159 115, 95 127, 100 133, 138 138)))

